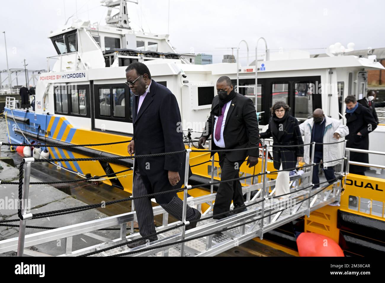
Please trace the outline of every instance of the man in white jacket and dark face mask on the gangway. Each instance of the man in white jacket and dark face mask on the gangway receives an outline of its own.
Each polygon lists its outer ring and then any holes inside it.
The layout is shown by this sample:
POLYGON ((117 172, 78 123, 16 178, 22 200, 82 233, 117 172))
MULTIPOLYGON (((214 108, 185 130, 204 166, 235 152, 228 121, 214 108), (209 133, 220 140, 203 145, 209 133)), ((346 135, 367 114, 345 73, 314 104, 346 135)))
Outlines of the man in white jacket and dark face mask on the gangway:
MULTIPOLYGON (((314 163, 319 163, 321 160, 324 162, 323 171, 325 172, 326 180, 332 183, 333 181, 330 180, 335 179, 333 166, 341 162, 333 160, 342 158, 342 153, 340 151, 341 143, 328 143, 337 142, 341 137, 347 136, 349 134, 348 127, 336 119, 325 116, 323 110, 318 108, 313 112, 313 118, 307 119, 300 124, 300 130, 301 134, 305 136, 304 144, 316 142, 314 163)), ((305 162, 310 164, 310 146, 305 146, 303 156, 305 162)), ((313 168, 312 183, 315 184, 314 188, 318 188, 320 183, 318 168, 318 165, 313 168)))

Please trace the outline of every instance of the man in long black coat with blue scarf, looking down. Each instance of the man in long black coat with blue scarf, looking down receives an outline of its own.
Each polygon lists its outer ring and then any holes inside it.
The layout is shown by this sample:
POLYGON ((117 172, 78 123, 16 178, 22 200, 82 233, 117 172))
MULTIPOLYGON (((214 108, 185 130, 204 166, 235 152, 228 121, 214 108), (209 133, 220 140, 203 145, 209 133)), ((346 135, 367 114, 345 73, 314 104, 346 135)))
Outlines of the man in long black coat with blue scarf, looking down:
MULTIPOLYGON (((348 142, 346 147, 357 149, 369 149, 369 134, 377 127, 377 121, 372 115, 372 111, 358 103, 354 95, 348 95, 345 98, 346 104, 346 126, 349 128, 349 134, 346 136, 348 142)), ((350 161, 369 163, 367 153, 350 152, 350 161)), ((359 165, 350 165, 349 172, 365 175, 368 167, 359 165)))

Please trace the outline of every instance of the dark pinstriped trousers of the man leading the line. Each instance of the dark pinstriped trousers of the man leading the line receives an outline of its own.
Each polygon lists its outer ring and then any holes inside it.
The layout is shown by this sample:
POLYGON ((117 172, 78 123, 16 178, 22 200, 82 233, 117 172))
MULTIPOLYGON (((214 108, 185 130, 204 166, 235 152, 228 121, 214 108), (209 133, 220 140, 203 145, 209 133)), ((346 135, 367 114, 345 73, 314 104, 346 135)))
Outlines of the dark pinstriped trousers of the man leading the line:
MULTIPOLYGON (((149 181, 146 176, 142 176, 139 169, 135 168, 134 182, 132 188, 132 196, 144 196, 149 194, 150 190, 146 189, 146 185, 149 186, 149 181), (146 183, 146 185, 145 185, 146 183)), ((152 204, 150 198, 134 199, 134 205, 136 210, 136 216, 138 220, 139 233, 142 237, 146 237, 150 234, 155 234, 154 225, 154 213, 152 211, 152 204)), ((162 208, 169 214, 174 216, 179 221, 182 221, 183 201, 175 194, 174 198, 169 203, 160 203, 162 208)), ((191 221, 196 218, 198 210, 187 206, 186 220, 191 221)), ((151 236, 149 239, 156 240, 157 236, 151 236)))

